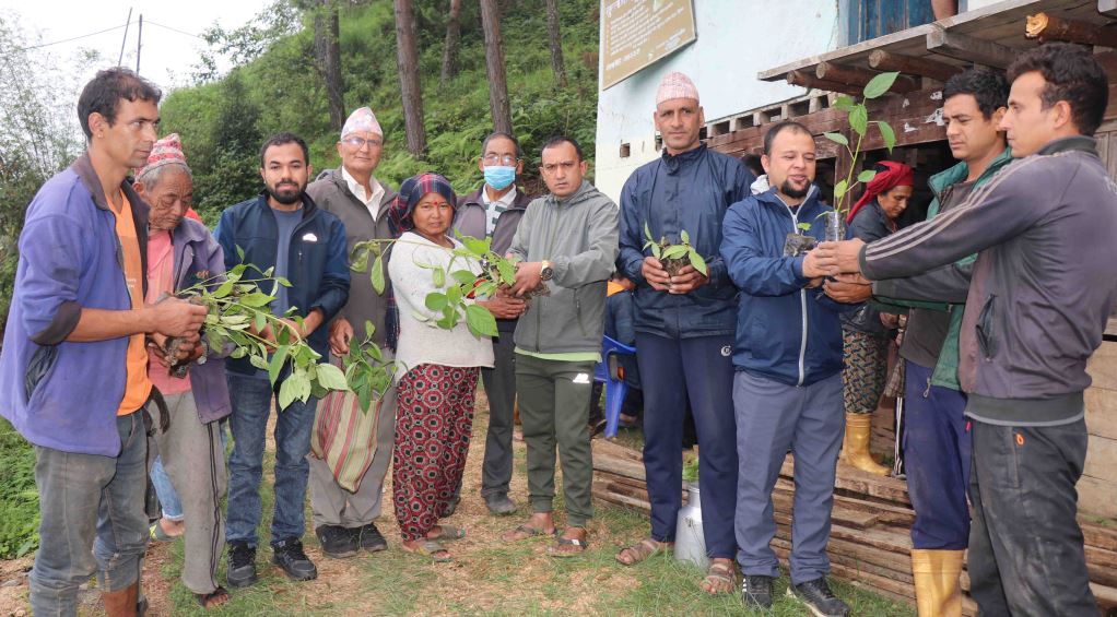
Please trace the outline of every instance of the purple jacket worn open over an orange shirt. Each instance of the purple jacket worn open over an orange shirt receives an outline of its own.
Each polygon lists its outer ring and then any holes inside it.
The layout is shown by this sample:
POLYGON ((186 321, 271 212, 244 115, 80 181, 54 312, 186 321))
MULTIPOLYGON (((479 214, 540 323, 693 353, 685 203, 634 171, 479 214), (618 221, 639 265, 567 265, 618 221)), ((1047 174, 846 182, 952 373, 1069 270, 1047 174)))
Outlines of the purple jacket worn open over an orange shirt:
MULTIPOLYGON (((126 182, 121 189, 132 203, 146 271, 149 208, 126 182)), ((0 414, 36 445, 104 456, 121 451, 116 409, 128 339, 66 340, 85 308, 132 308, 120 251, 115 218, 83 155, 39 189, 19 234, 0 354, 0 414)))

